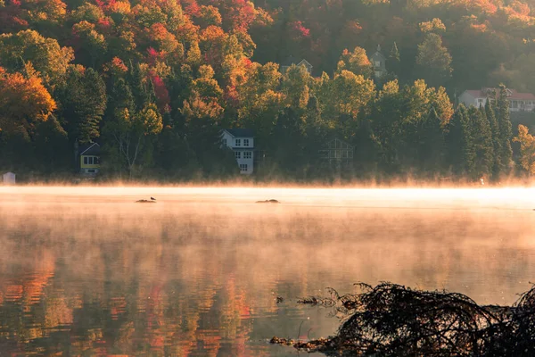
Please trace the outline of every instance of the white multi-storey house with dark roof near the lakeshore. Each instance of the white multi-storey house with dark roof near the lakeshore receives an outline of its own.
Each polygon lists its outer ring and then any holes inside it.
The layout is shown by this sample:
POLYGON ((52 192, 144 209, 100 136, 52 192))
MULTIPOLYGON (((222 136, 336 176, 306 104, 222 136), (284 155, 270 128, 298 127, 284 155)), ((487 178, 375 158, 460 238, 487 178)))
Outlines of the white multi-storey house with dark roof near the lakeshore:
POLYGON ((254 162, 254 136, 251 129, 225 129, 221 142, 234 151, 240 172, 251 175, 254 162))

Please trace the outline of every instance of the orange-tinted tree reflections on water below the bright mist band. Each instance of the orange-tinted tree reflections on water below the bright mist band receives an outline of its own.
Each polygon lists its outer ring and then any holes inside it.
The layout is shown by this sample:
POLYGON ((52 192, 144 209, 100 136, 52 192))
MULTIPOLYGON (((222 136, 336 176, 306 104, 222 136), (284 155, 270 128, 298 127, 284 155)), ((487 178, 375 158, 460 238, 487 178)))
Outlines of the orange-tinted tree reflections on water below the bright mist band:
MULTIPOLYGON (((250 340, 269 337, 271 330, 258 330, 265 327, 253 320, 281 311, 275 295, 317 295, 327 285, 381 279, 422 288, 449 283, 452 290, 477 295, 452 278, 477 271, 488 285, 505 286, 514 300, 523 287, 507 286, 502 271, 535 269, 527 254, 506 258, 518 255, 514 241, 478 241, 522 236, 530 220, 504 225, 496 215, 466 218, 457 212, 396 212, 394 219, 373 210, 266 214, 256 206, 234 212, 193 205, 169 213, 159 207, 151 213, 59 205, 32 212, 31 219, 27 209, 14 209, 9 219, 0 212, 6 232, 0 233, 0 349, 268 354, 268 347, 250 340), (497 251, 499 259, 485 259, 497 251)), ((284 309, 295 319, 282 334, 294 337, 303 308, 284 309)))

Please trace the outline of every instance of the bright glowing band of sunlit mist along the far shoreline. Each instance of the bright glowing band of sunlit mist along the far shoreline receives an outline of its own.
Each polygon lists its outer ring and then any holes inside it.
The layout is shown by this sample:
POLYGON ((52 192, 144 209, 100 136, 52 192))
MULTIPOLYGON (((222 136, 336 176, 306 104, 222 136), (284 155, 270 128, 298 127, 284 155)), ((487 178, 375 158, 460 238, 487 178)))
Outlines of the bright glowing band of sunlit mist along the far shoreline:
POLYGON ((155 196, 159 203, 254 203, 277 199, 284 204, 420 208, 535 208, 535 188, 309 188, 309 187, 0 187, 5 201, 32 196, 53 201, 94 198, 128 202, 155 196))

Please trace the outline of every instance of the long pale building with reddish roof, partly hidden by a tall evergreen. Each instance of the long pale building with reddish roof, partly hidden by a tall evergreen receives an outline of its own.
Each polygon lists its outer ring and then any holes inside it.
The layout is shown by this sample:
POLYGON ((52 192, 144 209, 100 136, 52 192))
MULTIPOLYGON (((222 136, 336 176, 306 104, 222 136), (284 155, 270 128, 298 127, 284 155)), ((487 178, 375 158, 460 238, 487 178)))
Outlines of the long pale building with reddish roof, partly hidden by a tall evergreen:
MULTIPOLYGON (((487 98, 492 97, 493 92, 499 93, 499 88, 482 87, 481 89, 465 90, 459 95, 459 104, 475 107, 485 106, 487 98)), ((531 93, 520 93, 514 89, 506 89, 507 100, 509 101, 509 111, 511 112, 532 112, 535 109, 535 95, 531 93)))

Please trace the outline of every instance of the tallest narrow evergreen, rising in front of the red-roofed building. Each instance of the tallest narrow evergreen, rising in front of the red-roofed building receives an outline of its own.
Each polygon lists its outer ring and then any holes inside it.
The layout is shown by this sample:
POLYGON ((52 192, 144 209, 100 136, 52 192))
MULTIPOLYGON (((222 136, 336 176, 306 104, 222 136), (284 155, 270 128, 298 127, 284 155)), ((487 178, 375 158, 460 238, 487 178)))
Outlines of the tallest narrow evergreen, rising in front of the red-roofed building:
POLYGON ((511 139, 513 130, 511 119, 509 118, 509 101, 507 100, 506 86, 499 86, 498 100, 496 102, 496 116, 498 120, 498 141, 499 141, 499 166, 497 170, 498 178, 508 175, 511 170, 513 160, 513 149, 511 139))

